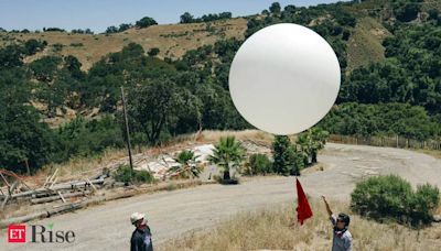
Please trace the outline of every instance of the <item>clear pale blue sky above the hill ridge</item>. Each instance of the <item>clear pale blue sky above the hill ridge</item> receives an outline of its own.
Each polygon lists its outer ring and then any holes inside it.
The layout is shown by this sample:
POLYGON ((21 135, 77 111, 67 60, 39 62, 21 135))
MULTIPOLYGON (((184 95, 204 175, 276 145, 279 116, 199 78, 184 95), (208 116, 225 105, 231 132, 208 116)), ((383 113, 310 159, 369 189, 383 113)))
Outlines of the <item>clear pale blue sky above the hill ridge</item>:
MULTIPOLYGON (((234 17, 259 13, 275 0, 0 0, 0 28, 7 30, 65 30, 89 28, 104 32, 107 26, 135 23, 151 17, 159 23, 176 23, 184 12, 194 17, 229 11, 234 17)), ((280 0, 282 7, 331 3, 335 0, 280 0)))

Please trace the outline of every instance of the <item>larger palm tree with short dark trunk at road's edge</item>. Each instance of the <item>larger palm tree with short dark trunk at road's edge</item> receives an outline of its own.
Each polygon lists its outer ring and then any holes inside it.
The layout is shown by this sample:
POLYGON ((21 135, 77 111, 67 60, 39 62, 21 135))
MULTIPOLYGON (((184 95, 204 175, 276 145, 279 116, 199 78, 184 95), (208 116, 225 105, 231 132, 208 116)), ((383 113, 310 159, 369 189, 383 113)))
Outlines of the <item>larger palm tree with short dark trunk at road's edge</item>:
POLYGON ((234 137, 220 138, 208 161, 224 172, 224 181, 229 181, 230 168, 237 168, 245 160, 245 149, 234 137))

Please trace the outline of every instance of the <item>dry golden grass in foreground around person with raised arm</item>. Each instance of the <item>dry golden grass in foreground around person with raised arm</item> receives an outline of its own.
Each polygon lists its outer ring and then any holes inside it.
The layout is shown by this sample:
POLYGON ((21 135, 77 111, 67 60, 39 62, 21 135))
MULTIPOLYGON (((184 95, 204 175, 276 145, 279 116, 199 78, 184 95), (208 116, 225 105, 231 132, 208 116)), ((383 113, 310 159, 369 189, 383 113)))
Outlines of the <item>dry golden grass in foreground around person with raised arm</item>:
MULTIPOLYGON (((331 203, 338 211, 347 204, 331 203)), ((295 221, 294 206, 244 212, 214 229, 190 232, 160 245, 160 250, 330 250, 332 228, 324 206, 312 201, 314 217, 303 226, 295 221), (293 223, 294 222, 294 223, 293 223)), ((441 226, 412 230, 396 223, 378 223, 351 214, 354 250, 441 250, 441 226)))

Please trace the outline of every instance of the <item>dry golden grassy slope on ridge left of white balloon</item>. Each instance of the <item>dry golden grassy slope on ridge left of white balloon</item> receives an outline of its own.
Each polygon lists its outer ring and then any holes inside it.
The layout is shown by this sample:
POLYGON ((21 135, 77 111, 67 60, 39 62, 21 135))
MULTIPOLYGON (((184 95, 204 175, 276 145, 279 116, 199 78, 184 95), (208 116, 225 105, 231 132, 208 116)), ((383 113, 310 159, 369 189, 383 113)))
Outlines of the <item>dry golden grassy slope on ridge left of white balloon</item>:
POLYGON ((47 42, 47 47, 25 62, 32 62, 44 55, 73 55, 83 64, 82 69, 89 69, 103 56, 119 52, 129 43, 142 45, 146 52, 158 47, 160 57, 176 59, 185 52, 203 45, 214 44, 224 39, 243 39, 247 29, 246 19, 219 20, 211 23, 165 24, 146 29, 132 28, 112 34, 74 34, 68 32, 40 33, 0 33, 0 46, 12 42, 31 39, 47 42), (62 45, 61 50, 56 47, 62 45))

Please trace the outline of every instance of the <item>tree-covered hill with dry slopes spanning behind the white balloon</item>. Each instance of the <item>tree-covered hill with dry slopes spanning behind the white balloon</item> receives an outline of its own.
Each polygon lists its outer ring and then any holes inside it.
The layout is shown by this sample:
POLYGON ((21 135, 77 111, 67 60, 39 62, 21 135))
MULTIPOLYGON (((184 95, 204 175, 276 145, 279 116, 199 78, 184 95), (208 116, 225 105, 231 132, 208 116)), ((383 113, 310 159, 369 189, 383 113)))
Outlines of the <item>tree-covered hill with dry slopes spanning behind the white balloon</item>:
POLYGON ((122 148, 120 86, 133 144, 198 129, 246 129, 228 70, 244 40, 291 22, 324 36, 338 56, 337 106, 319 127, 338 134, 441 134, 441 3, 353 1, 316 7, 275 2, 256 15, 229 12, 151 18, 90 30, 0 32, 0 165, 20 171, 122 148))

